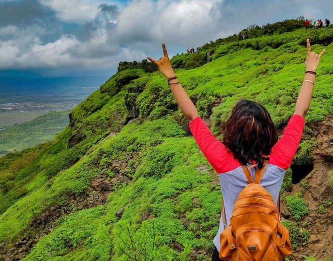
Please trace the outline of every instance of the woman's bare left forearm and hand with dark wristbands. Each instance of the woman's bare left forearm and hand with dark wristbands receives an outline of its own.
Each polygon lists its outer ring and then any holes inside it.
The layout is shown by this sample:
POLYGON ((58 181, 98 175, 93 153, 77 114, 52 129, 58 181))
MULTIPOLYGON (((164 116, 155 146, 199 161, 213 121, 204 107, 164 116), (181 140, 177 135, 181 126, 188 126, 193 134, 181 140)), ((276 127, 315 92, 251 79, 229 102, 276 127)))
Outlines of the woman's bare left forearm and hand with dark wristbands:
POLYGON ((171 62, 168 56, 167 49, 165 48, 164 43, 162 44, 163 48, 163 57, 160 57, 158 60, 154 60, 150 57, 147 57, 148 60, 155 63, 159 68, 161 73, 168 79, 168 84, 171 88, 172 93, 176 98, 176 102, 183 112, 185 118, 191 122, 193 119, 199 116, 197 109, 195 108, 190 97, 184 91, 182 85, 176 78, 175 72, 171 66, 171 62))

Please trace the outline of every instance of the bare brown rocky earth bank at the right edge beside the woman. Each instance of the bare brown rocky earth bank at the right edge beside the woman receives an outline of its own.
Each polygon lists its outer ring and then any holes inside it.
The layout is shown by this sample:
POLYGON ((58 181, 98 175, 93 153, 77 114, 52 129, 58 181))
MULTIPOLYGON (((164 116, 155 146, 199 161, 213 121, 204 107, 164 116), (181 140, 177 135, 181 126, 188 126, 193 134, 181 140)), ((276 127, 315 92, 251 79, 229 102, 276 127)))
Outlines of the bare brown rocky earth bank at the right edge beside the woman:
MULTIPOLYGON (((333 115, 314 126, 317 147, 311 151, 313 170, 292 185, 288 194, 303 192, 303 197, 308 204, 309 214, 301 222, 307 225, 310 237, 308 244, 294 251, 294 260, 303 260, 303 255, 315 256, 317 260, 333 258, 333 189, 329 172, 333 169, 333 115), (330 202, 325 209, 323 202, 330 202)), ((288 213, 287 208, 284 208, 288 213)))

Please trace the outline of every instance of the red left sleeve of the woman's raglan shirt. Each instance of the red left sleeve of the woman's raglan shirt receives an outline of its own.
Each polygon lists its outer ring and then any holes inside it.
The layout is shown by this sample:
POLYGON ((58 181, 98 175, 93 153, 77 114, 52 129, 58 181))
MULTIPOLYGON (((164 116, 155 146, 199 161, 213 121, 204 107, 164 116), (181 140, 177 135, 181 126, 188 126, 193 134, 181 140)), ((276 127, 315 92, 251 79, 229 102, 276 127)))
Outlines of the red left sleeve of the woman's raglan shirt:
POLYGON ((240 166, 238 160, 233 157, 233 154, 228 151, 226 146, 212 135, 200 117, 191 121, 190 129, 203 155, 205 155, 218 174, 231 171, 240 166))

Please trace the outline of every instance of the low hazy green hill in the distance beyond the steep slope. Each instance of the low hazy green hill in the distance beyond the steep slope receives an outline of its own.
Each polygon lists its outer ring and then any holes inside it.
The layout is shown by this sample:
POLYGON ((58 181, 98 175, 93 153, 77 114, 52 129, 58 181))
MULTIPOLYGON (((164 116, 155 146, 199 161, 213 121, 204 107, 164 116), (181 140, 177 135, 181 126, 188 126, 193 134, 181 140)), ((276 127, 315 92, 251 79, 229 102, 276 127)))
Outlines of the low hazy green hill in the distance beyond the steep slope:
POLYGON ((68 125, 68 111, 51 111, 0 130, 0 157, 52 140, 68 125))

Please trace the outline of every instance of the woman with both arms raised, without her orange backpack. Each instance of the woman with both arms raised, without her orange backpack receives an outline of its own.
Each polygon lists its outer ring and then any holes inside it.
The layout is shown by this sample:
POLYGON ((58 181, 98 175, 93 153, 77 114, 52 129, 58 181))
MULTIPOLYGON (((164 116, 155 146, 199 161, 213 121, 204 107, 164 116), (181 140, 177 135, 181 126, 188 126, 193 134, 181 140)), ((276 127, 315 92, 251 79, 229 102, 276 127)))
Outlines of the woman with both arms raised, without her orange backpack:
MULTIPOLYGON (((320 54, 311 51, 307 39, 306 71, 296 102, 294 115, 290 118, 281 139, 267 110, 260 104, 240 100, 232 110, 225 124, 223 142, 219 142, 200 118, 194 104, 184 91, 168 57, 167 49, 162 44, 163 57, 154 60, 160 72, 167 78, 168 84, 184 116, 189 121, 190 129, 199 148, 216 171, 224 200, 226 224, 221 217, 218 232, 213 240, 215 249, 212 260, 219 259, 219 235, 229 225, 231 213, 240 191, 248 184, 242 165, 256 164, 261 169, 264 160, 268 160, 264 176, 260 184, 272 195, 278 205, 279 192, 288 167, 290 167, 299 146, 305 115, 309 109, 315 71, 320 54)), ((254 169, 254 168, 253 168, 254 169)), ((252 173, 253 175, 253 173, 252 173)))

